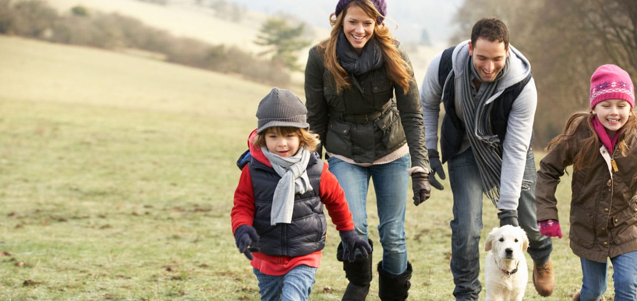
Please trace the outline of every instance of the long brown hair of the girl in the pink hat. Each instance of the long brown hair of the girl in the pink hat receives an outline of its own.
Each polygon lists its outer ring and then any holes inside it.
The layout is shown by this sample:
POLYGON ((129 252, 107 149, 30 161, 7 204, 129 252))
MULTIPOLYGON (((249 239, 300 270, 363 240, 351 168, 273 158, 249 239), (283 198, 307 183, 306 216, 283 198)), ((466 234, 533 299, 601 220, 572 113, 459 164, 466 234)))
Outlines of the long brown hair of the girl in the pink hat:
MULTIPOLYGON (((590 121, 592 120, 592 118, 595 118, 595 115, 592 113, 592 111, 578 112, 571 115, 571 117, 568 118, 566 125, 564 125, 562 134, 559 134, 557 137, 553 138, 548 143, 546 150, 552 150, 554 146, 559 143, 565 141, 568 142, 572 139, 575 139, 576 130, 580 127, 582 122, 586 122, 586 136, 589 137, 586 137, 582 139, 582 141, 577 143, 579 146, 581 146, 581 148, 573 159, 573 169, 584 169, 592 165, 592 163, 595 161, 596 156, 598 155, 598 150, 600 147, 599 136, 595 129, 593 129, 593 125, 590 121)), ((621 127, 621 129, 617 130, 617 133, 615 133, 615 135, 619 135, 619 137, 617 138, 616 148, 620 151, 622 156, 626 156, 626 150, 628 150, 625 139, 629 134, 633 133, 636 127, 637 117, 635 117, 633 112, 631 116, 628 117, 628 121, 626 122, 626 124, 624 124, 624 126, 621 127)))

